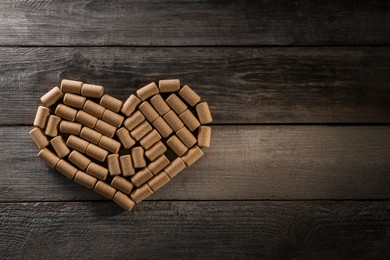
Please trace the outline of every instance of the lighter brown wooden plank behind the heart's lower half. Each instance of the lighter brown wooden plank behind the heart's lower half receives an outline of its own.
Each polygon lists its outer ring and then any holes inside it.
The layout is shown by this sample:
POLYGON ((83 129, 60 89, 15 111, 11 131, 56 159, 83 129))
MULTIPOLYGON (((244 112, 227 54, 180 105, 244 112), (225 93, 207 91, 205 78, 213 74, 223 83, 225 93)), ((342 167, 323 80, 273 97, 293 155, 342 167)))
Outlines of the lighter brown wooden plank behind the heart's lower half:
MULTIPOLYGON (((0 201, 101 200, 0 127, 0 201)), ((212 147, 152 200, 390 199, 389 127, 213 126, 212 147)))

